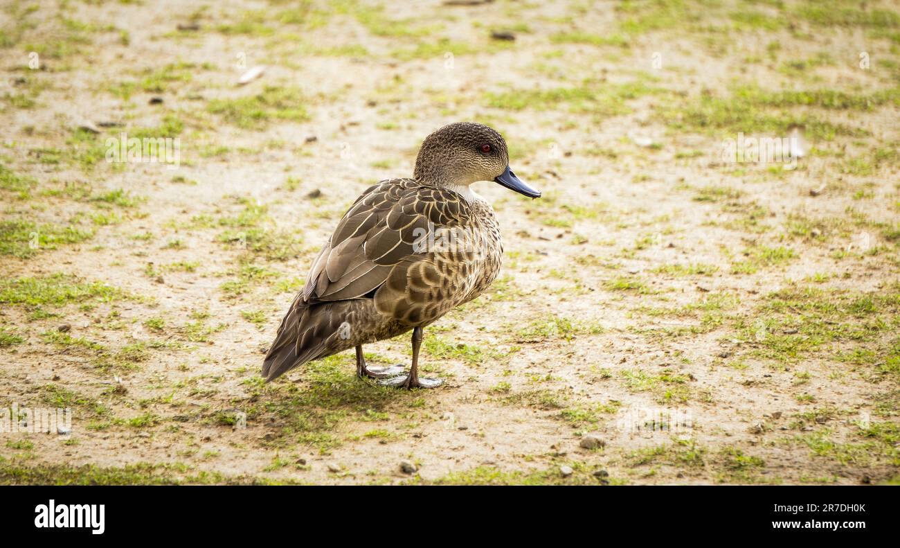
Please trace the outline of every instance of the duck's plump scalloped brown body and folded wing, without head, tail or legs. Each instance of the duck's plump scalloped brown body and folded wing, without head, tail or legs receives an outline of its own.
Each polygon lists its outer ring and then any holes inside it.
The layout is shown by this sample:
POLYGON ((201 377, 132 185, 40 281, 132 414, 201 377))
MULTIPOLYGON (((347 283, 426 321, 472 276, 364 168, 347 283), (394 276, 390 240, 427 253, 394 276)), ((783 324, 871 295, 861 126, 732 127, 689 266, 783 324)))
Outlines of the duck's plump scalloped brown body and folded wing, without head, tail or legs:
POLYGON ((501 253, 496 217, 479 196, 390 179, 368 188, 338 223, 302 298, 371 297, 383 315, 428 324, 490 285, 501 253))

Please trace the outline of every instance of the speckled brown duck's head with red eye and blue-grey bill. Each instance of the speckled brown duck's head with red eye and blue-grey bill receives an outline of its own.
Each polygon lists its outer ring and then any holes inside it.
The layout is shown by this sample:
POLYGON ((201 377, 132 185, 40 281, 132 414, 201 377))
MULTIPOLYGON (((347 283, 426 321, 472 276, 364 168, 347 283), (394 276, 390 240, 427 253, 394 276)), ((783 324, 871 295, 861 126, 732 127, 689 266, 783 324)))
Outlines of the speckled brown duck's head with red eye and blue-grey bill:
POLYGON ((428 135, 416 158, 415 177, 447 187, 492 180, 528 197, 541 196, 509 169, 509 151, 500 133, 481 123, 451 123, 428 135))

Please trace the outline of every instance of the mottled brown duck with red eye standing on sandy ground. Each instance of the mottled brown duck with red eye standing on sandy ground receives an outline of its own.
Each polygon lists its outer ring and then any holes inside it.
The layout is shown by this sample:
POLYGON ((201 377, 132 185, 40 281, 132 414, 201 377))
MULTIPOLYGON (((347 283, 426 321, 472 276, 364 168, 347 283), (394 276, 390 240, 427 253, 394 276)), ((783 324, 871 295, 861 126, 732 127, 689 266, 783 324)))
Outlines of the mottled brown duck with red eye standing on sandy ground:
POLYGON ((312 262, 263 362, 270 382, 310 361, 356 349, 356 375, 395 388, 436 388, 419 377, 424 329, 478 297, 500 272, 503 242, 491 204, 472 185, 494 181, 541 193, 509 169, 509 149, 482 123, 450 123, 419 147, 412 178, 356 198, 312 262), (410 370, 369 366, 363 345, 412 332, 410 370))

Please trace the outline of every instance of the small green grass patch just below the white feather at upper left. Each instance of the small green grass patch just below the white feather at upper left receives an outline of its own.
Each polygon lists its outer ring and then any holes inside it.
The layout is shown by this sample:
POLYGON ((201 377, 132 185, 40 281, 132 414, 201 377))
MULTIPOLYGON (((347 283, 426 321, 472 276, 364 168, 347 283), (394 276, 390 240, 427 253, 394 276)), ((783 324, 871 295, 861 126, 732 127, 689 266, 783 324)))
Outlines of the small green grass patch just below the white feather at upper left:
POLYGON ((265 129, 273 121, 309 120, 306 103, 299 87, 266 86, 255 96, 213 99, 207 110, 238 127, 265 129))

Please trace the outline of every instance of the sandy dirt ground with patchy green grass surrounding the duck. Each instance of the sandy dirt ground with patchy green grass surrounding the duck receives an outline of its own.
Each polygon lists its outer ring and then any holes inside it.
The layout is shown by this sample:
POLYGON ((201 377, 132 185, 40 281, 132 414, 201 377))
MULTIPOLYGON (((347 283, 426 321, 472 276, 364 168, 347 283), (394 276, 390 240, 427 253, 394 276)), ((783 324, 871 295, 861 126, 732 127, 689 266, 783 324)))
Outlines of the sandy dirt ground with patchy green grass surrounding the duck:
POLYGON ((0 4, 0 409, 72 413, 0 482, 900 481, 896 4, 0 4), (446 384, 264 385, 340 216, 456 121, 544 196, 476 185, 506 253, 425 333, 446 384))

